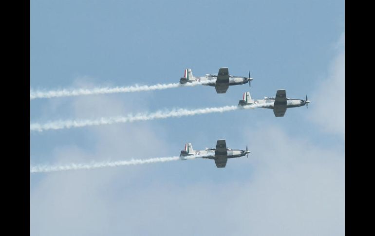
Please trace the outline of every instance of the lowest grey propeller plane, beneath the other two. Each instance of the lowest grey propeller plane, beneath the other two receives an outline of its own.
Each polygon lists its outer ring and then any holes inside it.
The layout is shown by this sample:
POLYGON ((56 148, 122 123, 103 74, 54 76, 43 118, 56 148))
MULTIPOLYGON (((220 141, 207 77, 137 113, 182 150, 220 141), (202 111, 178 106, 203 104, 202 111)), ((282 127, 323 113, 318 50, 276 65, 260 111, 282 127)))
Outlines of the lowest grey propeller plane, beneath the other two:
POLYGON ((248 158, 249 153, 250 151, 247 150, 247 146, 246 151, 239 149, 231 149, 226 147, 225 139, 221 139, 216 142, 216 148, 206 147, 205 150, 201 151, 193 150, 191 143, 187 143, 185 144, 185 149, 181 151, 180 159, 187 160, 187 156, 202 155, 204 157, 199 158, 213 159, 215 160, 216 167, 224 168, 228 158, 243 157, 244 155, 246 155, 248 158))

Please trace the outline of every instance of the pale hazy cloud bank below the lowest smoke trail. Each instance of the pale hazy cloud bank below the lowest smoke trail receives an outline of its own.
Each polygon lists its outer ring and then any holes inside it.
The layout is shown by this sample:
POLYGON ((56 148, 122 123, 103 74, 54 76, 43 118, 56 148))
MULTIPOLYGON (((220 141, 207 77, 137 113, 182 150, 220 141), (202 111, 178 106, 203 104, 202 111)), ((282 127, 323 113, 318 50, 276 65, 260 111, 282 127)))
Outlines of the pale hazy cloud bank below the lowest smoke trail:
POLYGON ((190 176, 150 177, 153 169, 173 173, 162 164, 46 175, 31 194, 32 235, 344 234, 343 153, 277 127, 244 138, 248 160, 226 169, 212 162, 213 173, 187 184, 179 180, 190 176), (250 166, 244 180, 225 179, 250 166))

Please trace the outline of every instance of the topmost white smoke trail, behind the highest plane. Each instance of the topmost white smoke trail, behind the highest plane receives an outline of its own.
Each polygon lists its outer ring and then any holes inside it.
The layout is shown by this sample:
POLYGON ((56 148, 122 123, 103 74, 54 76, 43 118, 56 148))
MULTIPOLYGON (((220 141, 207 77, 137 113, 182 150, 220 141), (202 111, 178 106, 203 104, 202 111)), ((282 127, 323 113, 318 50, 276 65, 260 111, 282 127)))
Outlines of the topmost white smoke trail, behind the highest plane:
POLYGON ((30 90, 30 100, 36 98, 53 98, 53 97, 69 97, 79 95, 94 95, 94 94, 108 94, 118 92, 139 92, 139 91, 151 91, 151 90, 165 90, 179 87, 193 87, 197 85, 205 85, 213 83, 215 80, 193 82, 193 83, 171 83, 171 84, 156 84, 156 85, 143 85, 143 86, 129 86, 129 87, 114 87, 114 88, 94 88, 94 89, 76 89, 76 90, 52 90, 52 91, 34 91, 30 90))

